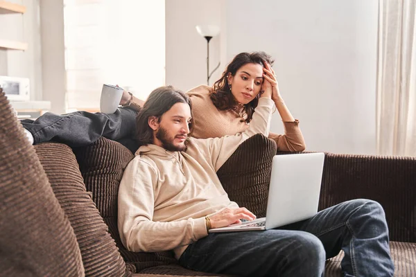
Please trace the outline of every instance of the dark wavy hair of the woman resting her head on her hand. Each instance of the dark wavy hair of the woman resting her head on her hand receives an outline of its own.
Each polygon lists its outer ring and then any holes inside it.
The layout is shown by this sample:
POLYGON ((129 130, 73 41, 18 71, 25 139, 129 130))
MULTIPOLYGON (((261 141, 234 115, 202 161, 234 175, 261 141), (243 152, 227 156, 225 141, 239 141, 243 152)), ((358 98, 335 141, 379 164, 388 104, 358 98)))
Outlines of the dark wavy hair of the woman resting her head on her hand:
MULTIPOLYGON (((264 52, 252 52, 252 53, 239 53, 236 55, 234 59, 227 65, 225 71, 221 78, 214 83, 212 86, 213 90, 209 93, 209 98, 211 98, 212 102, 214 103, 217 109, 224 111, 226 109, 233 109, 239 103, 236 101, 234 96, 231 93, 231 89, 229 89, 228 74, 233 76, 236 75, 236 72, 241 68, 241 66, 245 64, 260 64, 264 66, 263 61, 268 62, 270 66, 273 65, 275 60, 272 59, 270 55, 264 52)), ((240 111, 240 116, 247 115, 245 122, 249 123, 252 120, 254 109, 257 107, 257 103, 259 102, 258 94, 256 98, 250 101, 248 104, 244 105, 244 109, 240 111)))

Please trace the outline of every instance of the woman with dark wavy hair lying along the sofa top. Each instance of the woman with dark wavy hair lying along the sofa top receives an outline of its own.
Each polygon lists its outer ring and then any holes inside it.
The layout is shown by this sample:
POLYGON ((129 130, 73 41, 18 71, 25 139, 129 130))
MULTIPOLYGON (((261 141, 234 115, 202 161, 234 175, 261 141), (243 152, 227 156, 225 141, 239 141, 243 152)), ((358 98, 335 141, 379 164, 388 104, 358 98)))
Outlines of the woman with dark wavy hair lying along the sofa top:
MULTIPOLYGON (((192 136, 207 139, 243 132, 252 120, 261 91, 270 85, 272 100, 284 123, 284 134, 270 133, 269 138, 276 141, 279 151, 303 151, 305 143, 299 121, 293 118, 281 98, 271 67, 273 62, 264 52, 239 53, 212 87, 200 85, 187 91, 193 107, 192 136)), ((120 104, 128 107, 117 109, 114 114, 77 111, 58 116, 47 113, 35 122, 24 120, 22 123, 29 131, 28 136, 33 136, 34 143, 53 140, 73 147, 94 143, 105 136, 135 152, 137 143, 132 143, 131 139, 137 139, 135 117, 143 103, 124 91, 120 104), (74 127, 77 128, 74 130, 74 127)))

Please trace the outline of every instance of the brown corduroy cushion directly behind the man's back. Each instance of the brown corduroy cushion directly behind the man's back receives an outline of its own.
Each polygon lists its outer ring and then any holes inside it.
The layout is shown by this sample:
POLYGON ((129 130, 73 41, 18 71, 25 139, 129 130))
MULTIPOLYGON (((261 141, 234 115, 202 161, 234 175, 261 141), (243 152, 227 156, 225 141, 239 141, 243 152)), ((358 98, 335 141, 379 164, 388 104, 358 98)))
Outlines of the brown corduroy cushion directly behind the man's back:
POLYGON ((130 270, 139 272, 147 267, 176 264, 171 251, 136 253, 125 249, 117 228, 117 197, 123 171, 133 154, 120 143, 101 138, 92 145, 73 148, 87 190, 92 193, 98 211, 116 241, 121 256, 130 264, 130 270), (134 267, 136 269, 134 269, 134 267))

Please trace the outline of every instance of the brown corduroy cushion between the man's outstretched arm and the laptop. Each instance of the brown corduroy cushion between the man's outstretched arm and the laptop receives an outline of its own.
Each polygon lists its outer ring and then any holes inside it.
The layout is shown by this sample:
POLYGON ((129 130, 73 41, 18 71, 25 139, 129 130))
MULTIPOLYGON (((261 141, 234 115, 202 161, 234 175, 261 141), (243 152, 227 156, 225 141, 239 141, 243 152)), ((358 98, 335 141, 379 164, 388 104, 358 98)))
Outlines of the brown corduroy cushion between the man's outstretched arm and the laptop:
POLYGON ((257 217, 266 216, 272 158, 276 151, 275 141, 256 134, 241 143, 217 172, 229 199, 257 217))

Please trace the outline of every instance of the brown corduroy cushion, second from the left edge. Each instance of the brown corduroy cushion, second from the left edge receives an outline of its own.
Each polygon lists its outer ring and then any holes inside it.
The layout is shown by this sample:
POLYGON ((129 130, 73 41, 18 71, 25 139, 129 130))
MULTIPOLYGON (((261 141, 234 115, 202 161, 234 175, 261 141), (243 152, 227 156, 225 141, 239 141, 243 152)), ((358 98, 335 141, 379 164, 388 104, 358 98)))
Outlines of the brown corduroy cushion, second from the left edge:
POLYGON ((35 145, 35 150, 53 193, 76 234, 85 276, 124 276, 125 262, 96 205, 85 190, 71 148, 60 143, 41 143, 35 145))

